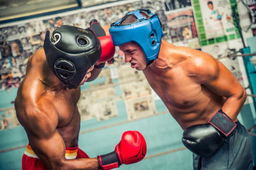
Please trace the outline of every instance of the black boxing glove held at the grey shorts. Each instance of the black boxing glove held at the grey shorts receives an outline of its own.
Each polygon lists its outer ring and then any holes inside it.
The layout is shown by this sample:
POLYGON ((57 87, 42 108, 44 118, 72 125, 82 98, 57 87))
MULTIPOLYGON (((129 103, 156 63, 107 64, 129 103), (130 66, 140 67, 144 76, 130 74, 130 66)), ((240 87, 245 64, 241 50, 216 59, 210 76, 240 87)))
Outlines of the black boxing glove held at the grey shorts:
POLYGON ((220 109, 208 123, 193 125, 184 130, 182 142, 194 154, 210 157, 235 127, 233 120, 220 109))

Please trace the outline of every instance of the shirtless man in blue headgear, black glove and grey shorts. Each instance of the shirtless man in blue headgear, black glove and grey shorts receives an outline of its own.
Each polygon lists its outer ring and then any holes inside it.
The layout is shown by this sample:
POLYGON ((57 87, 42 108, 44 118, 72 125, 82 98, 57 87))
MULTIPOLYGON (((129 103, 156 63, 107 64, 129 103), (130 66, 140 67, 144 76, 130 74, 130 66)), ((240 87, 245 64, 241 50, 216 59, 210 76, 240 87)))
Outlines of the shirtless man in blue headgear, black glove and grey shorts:
POLYGON ((181 125, 194 169, 252 169, 250 138, 238 121, 246 92, 221 62, 161 40, 161 22, 149 9, 127 13, 110 34, 181 125))

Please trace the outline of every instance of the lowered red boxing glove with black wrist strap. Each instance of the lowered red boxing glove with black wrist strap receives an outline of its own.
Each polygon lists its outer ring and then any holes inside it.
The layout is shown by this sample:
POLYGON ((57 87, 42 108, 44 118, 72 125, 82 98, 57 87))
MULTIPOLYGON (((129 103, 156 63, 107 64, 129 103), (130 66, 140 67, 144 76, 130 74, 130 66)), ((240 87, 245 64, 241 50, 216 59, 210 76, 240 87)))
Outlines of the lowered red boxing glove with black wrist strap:
POLYGON ((144 159, 146 155, 146 141, 138 131, 127 131, 122 140, 115 147, 114 152, 98 156, 100 169, 108 170, 121 164, 134 164, 144 159))

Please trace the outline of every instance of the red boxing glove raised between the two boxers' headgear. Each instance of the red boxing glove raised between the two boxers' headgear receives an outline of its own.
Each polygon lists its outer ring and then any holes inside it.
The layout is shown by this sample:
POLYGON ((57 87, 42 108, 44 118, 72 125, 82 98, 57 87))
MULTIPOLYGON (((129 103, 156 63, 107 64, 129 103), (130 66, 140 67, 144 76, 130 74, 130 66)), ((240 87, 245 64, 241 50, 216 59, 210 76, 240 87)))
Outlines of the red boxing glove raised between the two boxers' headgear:
POLYGON ((100 56, 100 60, 96 62, 96 64, 105 63, 107 61, 112 60, 114 57, 115 47, 112 42, 111 36, 103 36, 99 37, 100 45, 102 47, 102 55, 100 56))

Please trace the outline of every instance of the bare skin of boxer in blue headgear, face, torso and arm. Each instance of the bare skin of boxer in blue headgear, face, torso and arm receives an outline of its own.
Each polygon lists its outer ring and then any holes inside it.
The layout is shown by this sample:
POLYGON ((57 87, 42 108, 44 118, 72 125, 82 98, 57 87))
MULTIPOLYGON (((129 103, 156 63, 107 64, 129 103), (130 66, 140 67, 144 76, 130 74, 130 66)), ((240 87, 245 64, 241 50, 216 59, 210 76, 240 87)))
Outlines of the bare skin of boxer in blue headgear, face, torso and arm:
POLYGON ((211 55, 162 40, 158 58, 146 67, 144 52, 136 42, 127 42, 119 49, 132 68, 144 72, 183 130, 207 123, 220 108, 233 121, 238 121, 246 100, 245 89, 211 55))

